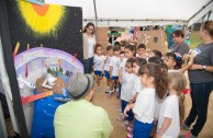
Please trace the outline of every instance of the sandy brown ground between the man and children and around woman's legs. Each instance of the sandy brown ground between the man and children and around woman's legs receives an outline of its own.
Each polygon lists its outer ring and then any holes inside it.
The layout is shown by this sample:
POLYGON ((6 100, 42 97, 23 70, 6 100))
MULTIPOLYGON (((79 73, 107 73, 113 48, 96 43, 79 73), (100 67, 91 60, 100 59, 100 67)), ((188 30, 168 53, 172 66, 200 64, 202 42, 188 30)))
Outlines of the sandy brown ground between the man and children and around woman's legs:
MULTIPOLYGON (((101 85, 102 85, 102 91, 96 93, 93 103, 96 105, 102 106, 108 112, 113 125, 113 133, 111 138, 125 138, 126 130, 122 127, 122 123, 116 120, 116 118, 120 115, 120 112, 119 112, 120 100, 117 100, 115 95, 113 95, 111 99, 108 99, 108 95, 104 92, 105 79, 102 80, 101 85)), ((188 115, 190 107, 191 107, 191 99, 190 99, 190 95, 187 95, 186 116, 188 115)), ((186 133, 186 131, 181 130, 181 133, 186 133)), ((211 94, 211 97, 210 97, 208 120, 199 138, 213 138, 213 94, 211 94)))

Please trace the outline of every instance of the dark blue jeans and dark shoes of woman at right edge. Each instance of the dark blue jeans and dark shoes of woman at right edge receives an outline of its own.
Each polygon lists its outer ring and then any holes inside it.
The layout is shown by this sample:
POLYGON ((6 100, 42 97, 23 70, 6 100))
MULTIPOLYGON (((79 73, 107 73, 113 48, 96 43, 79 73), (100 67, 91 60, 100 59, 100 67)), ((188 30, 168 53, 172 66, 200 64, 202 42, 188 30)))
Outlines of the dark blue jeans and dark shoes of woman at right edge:
POLYGON ((206 122, 209 97, 213 90, 213 82, 190 83, 190 87, 192 107, 184 123, 187 126, 191 126, 198 117, 193 129, 191 129, 191 134, 198 136, 206 122))

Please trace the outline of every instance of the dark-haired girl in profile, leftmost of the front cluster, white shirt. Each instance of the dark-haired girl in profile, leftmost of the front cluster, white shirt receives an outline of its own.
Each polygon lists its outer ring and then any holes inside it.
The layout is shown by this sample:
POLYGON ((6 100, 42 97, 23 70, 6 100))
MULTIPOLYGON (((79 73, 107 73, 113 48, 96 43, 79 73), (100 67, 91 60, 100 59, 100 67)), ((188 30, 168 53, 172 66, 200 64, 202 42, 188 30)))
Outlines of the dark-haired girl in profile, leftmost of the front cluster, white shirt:
MULTIPOLYGON (((133 58, 127 59, 125 65, 125 74, 123 76, 122 80, 122 87, 121 87, 121 106, 122 106, 122 113, 124 112, 124 108, 128 104, 130 99, 132 97, 132 88, 134 85, 134 81, 136 79, 136 76, 133 73, 133 62, 135 60, 133 58)), ((130 125, 130 122, 133 120, 134 115, 132 111, 128 113, 128 117, 126 117, 126 120, 124 122, 125 126, 130 125)))

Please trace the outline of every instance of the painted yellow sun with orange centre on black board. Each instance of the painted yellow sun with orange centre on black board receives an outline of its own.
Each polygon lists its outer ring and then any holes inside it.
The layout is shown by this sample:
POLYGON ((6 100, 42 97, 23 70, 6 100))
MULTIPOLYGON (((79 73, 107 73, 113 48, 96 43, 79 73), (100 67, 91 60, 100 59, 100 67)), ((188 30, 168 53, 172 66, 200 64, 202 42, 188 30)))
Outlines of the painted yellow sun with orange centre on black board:
POLYGON ((44 7, 19 0, 19 9, 26 25, 40 35, 57 34, 65 14, 61 5, 45 4, 44 7))

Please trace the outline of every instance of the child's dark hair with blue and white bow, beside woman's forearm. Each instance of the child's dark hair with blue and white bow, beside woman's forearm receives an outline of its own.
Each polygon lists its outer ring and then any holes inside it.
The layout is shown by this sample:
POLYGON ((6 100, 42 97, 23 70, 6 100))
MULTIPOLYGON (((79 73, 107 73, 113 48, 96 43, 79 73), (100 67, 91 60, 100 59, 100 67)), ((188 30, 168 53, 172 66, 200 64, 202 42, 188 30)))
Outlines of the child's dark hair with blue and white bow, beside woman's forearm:
POLYGON ((181 57, 180 54, 178 54, 178 53, 167 53, 166 56, 171 57, 173 59, 173 61, 176 61, 175 69, 180 69, 181 68, 182 57, 181 57))

